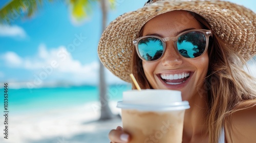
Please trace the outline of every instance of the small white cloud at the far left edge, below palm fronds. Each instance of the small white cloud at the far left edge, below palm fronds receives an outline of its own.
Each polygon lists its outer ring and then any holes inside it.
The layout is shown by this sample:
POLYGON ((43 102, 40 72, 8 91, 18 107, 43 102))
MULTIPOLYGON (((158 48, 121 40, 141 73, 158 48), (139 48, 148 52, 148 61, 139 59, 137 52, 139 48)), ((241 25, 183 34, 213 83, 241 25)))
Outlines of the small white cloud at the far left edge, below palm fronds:
POLYGON ((26 38, 27 34, 22 27, 0 25, 0 36, 26 38))

